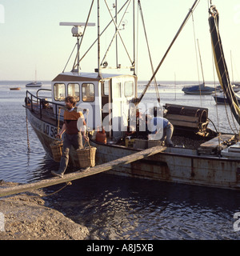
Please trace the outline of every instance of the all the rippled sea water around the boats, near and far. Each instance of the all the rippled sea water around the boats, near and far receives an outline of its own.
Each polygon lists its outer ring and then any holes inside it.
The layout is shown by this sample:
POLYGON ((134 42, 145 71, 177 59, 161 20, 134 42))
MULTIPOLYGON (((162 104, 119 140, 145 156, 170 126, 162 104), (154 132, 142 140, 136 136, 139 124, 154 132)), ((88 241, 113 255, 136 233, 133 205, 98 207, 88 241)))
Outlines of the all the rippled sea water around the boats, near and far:
MULTIPOLYGON (((0 180, 35 182, 50 178, 58 170, 45 154, 37 136, 26 122, 22 107, 26 82, 0 82, 0 180), (10 90, 20 86, 21 90, 10 90)), ((162 103, 172 102, 209 108, 210 119, 227 131, 226 110, 210 96, 184 95, 182 85, 159 87, 162 103), (219 120, 219 121, 218 121, 219 120)), ((42 88, 50 88, 45 82, 42 88)), ((141 91, 143 86, 139 86, 141 91)), ((31 89, 32 91, 36 89, 31 89)), ((144 101, 152 102, 154 88, 144 101)), ((234 126, 234 123, 232 123, 234 126)), ((70 171, 70 170, 68 170, 70 171)), ((46 192, 58 190, 61 185, 46 192)), ((98 174, 73 182, 46 198, 46 205, 87 226, 91 239, 234 239, 234 213, 240 211, 240 192, 168 182, 122 178, 98 174)))

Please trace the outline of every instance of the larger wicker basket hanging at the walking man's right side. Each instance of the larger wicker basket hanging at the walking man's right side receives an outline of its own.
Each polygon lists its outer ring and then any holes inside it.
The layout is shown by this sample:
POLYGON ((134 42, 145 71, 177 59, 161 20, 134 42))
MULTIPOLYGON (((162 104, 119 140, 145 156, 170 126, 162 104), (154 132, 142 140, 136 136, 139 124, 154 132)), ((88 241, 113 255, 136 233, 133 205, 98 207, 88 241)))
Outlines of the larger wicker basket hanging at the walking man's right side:
POLYGON ((78 154, 78 165, 80 168, 94 167, 97 148, 94 146, 90 146, 89 142, 88 146, 85 145, 86 142, 83 146, 83 149, 76 150, 78 154))

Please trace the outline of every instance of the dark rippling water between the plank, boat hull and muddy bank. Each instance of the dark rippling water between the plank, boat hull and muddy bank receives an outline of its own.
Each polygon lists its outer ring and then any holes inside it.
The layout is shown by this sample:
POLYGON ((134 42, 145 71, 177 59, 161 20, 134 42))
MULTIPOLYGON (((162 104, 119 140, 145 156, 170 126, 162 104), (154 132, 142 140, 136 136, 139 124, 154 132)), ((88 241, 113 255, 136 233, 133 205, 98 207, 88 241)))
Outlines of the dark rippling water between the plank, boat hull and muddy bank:
POLYGON ((91 239, 238 239, 239 193, 98 174, 51 198, 91 239))

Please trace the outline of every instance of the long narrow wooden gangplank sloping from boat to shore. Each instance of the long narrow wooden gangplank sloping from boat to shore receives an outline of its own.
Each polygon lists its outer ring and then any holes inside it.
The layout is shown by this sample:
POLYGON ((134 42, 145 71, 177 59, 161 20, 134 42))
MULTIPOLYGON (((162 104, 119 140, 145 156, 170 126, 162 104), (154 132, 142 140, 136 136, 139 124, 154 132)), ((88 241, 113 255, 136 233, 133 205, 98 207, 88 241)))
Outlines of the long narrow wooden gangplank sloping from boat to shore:
POLYGON ((10 194, 18 194, 18 193, 26 192, 29 190, 37 190, 43 187, 54 186, 64 182, 70 182, 78 178, 85 178, 90 175, 99 174, 106 170, 114 169, 115 166, 126 165, 130 162, 135 162, 135 161, 141 160, 142 158, 147 158, 150 155, 158 154, 163 150, 166 150, 165 146, 154 146, 150 149, 142 150, 142 151, 139 151, 138 153, 130 154, 126 157, 118 158, 114 161, 106 162, 102 165, 91 167, 89 170, 86 170, 86 171, 82 171, 82 172, 77 171, 72 174, 66 174, 63 176, 63 178, 49 178, 49 179, 42 180, 40 182, 33 182, 33 183, 22 184, 14 187, 9 187, 9 188, 2 188, 0 189, 0 197, 4 197, 10 194))

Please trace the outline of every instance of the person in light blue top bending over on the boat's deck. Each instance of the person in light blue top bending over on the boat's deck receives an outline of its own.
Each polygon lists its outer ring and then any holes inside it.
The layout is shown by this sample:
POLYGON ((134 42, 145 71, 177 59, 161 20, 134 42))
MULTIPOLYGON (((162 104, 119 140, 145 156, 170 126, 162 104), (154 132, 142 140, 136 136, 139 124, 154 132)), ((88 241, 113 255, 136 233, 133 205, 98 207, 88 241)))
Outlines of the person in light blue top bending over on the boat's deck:
POLYGON ((166 141, 167 146, 174 146, 171 141, 174 126, 166 118, 146 115, 146 125, 149 131, 149 139, 161 139, 166 141))

